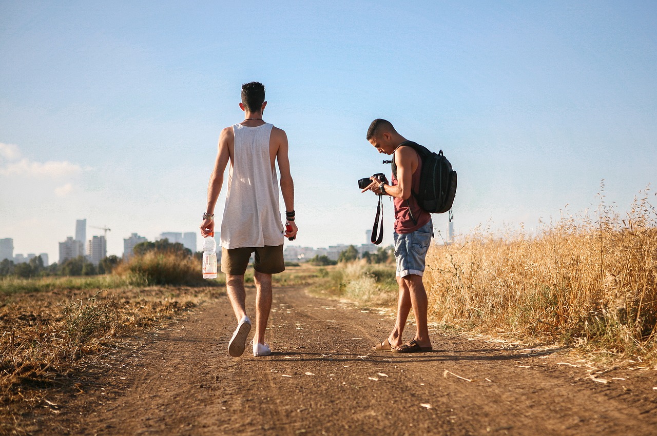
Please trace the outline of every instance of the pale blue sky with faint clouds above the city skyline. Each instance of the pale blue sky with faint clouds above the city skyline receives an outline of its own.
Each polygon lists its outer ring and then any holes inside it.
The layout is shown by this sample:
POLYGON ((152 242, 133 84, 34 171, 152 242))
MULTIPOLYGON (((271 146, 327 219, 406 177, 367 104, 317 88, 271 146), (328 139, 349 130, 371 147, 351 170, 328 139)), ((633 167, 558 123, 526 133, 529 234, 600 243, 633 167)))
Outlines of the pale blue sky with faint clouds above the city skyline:
POLYGON ((365 242, 374 118, 443 150, 457 233, 656 204, 656 72, 652 1, 0 0, 0 238, 52 263, 76 219, 110 255, 198 232, 248 81, 290 142, 294 245, 365 242))

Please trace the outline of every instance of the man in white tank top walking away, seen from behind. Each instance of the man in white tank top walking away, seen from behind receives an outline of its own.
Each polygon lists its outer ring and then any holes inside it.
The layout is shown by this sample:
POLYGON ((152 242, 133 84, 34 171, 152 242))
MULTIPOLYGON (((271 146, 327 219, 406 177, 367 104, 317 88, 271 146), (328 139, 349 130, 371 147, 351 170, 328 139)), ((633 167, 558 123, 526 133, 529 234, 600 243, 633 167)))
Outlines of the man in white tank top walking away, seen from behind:
POLYGON ((258 82, 242 85, 244 121, 226 127, 219 135, 219 150, 208 185, 208 208, 200 229, 205 237, 214 234, 214 207, 223 185, 223 173, 231 163, 226 204, 221 221, 221 271, 226 274, 227 294, 237 318, 237 328, 228 352, 241 356, 251 330, 244 299, 244 272, 255 253, 256 334, 253 355, 271 354, 265 343, 265 329, 271 310, 271 274, 283 272, 284 236, 294 239, 294 183, 290 175, 288 141, 285 132, 262 120, 267 106, 265 87, 258 82), (279 210, 279 181, 285 203, 285 228, 279 210))

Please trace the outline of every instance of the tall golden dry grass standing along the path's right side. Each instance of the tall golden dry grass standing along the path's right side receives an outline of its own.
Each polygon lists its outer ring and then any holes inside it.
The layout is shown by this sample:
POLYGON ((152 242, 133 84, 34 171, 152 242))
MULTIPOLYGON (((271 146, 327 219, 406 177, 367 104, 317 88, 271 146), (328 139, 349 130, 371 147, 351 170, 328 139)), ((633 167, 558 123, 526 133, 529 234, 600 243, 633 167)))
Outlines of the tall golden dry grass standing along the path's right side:
POLYGON ((476 231, 433 246, 430 318, 562 339, 620 355, 657 352, 657 212, 643 192, 621 217, 602 203, 535 236, 476 231))

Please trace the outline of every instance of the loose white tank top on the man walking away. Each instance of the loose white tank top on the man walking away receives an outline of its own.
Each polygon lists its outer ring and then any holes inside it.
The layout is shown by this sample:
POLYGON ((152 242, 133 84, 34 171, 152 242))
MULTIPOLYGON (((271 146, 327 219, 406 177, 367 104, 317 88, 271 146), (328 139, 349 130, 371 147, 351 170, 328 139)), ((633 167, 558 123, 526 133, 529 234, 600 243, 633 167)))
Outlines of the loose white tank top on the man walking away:
POLYGON ((221 220, 224 248, 283 244, 279 181, 269 158, 272 127, 269 123, 258 127, 233 125, 235 156, 221 220))

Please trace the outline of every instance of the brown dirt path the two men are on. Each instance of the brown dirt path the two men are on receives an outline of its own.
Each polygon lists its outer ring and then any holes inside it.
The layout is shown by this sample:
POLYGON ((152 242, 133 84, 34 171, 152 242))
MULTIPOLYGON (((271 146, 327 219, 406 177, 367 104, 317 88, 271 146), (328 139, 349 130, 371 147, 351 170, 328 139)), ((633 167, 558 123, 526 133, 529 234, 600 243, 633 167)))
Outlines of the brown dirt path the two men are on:
POLYGON ((30 432, 657 435, 654 371, 594 381, 554 350, 437 332, 433 353, 370 351, 391 327, 377 311, 279 289, 268 333, 275 353, 254 358, 247 347, 233 359, 235 318, 221 297, 104 368, 83 393, 51 399, 53 413, 35 416, 30 432))

